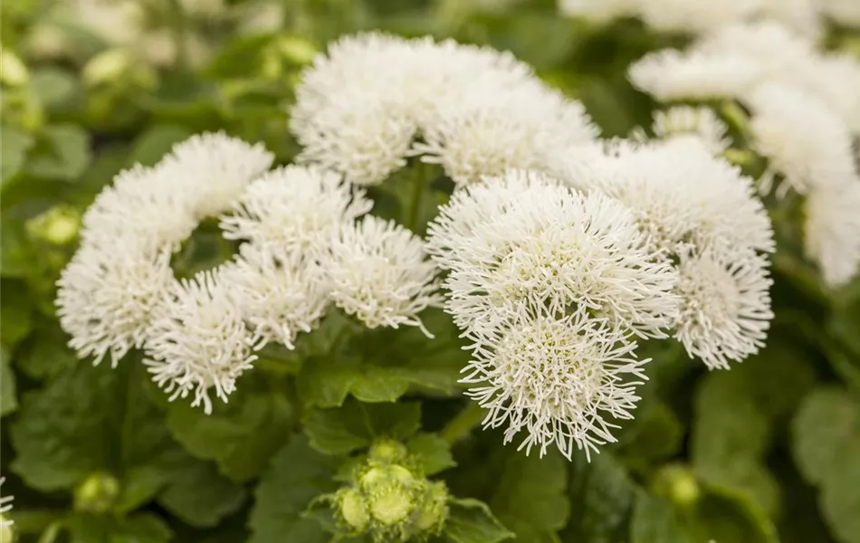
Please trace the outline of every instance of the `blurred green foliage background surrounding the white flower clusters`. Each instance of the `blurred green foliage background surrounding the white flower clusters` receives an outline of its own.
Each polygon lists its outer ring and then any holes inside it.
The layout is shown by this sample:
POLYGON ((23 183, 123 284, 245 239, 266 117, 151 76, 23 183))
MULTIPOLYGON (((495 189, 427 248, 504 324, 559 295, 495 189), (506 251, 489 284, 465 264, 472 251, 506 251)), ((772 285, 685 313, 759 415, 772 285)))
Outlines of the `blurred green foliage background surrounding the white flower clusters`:
MULTIPOLYGON (((676 346, 647 345, 636 419, 590 463, 468 433, 476 421, 455 383, 466 355, 441 314, 427 318, 440 338, 432 352, 409 333, 344 340, 349 325, 327 319, 297 353, 263 357, 209 417, 168 404, 139 365, 77 360, 53 283, 100 188, 203 130, 262 141, 289 163, 302 67, 330 40, 370 29, 510 50, 582 100, 607 137, 647 126, 655 107, 626 66, 683 43, 635 21, 571 21, 552 0, 0 3, 0 475, 17 540, 328 540, 301 531, 301 510, 309 489, 333 484, 320 452, 356 439, 337 407, 406 395, 423 401, 424 430, 454 443, 457 466, 441 475, 452 492, 489 504, 519 541, 860 542, 860 285, 828 292, 790 251, 774 262, 768 348, 709 373, 676 346), (358 351, 386 362, 368 366, 358 351)), ((406 196, 389 189, 377 200, 397 216, 406 196)), ((200 228, 177 273, 229 251, 200 228)), ((458 543, 499 540, 475 533, 458 543)))

